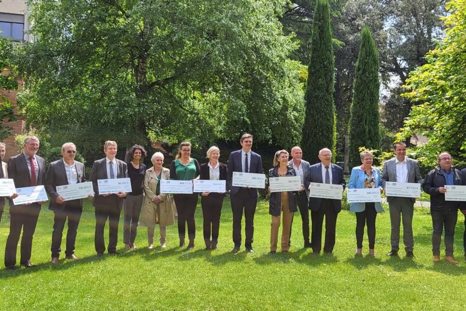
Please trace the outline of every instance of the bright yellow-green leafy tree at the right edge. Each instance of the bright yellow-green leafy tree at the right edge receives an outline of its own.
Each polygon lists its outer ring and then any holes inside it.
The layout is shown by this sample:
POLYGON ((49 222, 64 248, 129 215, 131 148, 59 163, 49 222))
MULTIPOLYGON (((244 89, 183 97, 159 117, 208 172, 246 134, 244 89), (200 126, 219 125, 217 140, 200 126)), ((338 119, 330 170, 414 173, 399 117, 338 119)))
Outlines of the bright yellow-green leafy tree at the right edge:
POLYGON ((409 113, 399 140, 413 134, 428 142, 413 149, 426 166, 446 150, 464 164, 466 158, 466 0, 447 4, 446 37, 427 56, 427 64, 413 71, 404 85, 403 96, 418 103, 409 113))

